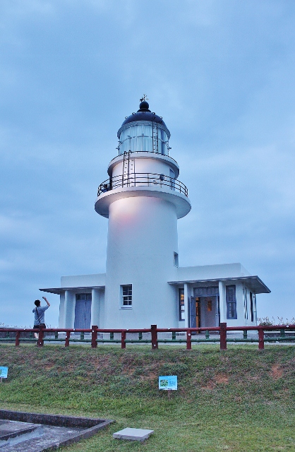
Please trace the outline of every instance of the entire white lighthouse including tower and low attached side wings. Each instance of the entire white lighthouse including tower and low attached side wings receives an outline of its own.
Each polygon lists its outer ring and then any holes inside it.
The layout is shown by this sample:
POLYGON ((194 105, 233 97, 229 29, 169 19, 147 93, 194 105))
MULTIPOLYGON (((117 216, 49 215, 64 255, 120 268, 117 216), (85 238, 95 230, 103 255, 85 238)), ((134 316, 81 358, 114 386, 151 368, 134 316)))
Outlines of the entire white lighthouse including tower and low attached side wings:
POLYGON ((140 102, 118 131, 95 210, 109 219, 106 273, 61 277, 60 328, 255 325, 270 290, 240 263, 179 267, 177 220, 191 210, 162 117, 140 102))

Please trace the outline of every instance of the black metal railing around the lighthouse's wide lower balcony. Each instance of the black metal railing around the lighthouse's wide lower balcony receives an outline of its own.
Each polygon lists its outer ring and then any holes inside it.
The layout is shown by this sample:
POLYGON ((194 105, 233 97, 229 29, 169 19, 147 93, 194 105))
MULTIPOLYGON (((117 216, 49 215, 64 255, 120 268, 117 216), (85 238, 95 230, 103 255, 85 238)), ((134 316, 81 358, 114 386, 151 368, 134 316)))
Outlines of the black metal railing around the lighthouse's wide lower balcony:
POLYGON ((163 186, 188 196, 188 189, 178 179, 165 176, 165 174, 154 174, 150 172, 136 172, 111 177, 100 184, 97 190, 97 196, 107 191, 118 189, 119 187, 129 186, 157 186, 159 188, 163 186))

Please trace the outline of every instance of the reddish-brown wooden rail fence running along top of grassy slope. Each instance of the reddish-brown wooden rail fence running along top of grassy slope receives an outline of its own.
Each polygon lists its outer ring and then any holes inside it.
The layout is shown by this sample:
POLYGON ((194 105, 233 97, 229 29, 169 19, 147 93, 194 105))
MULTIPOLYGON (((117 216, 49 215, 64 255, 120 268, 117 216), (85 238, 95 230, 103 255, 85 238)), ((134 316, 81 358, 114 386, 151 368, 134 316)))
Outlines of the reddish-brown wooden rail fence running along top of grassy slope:
POLYGON ((98 328, 96 325, 93 325, 89 329, 42 327, 39 329, 0 328, 0 343, 15 342, 16 347, 18 347, 20 343, 36 343, 34 333, 37 333, 39 336, 37 339, 38 347, 43 347, 44 340, 46 340, 49 343, 64 342, 65 347, 68 347, 70 342, 91 343, 92 348, 96 348, 99 343, 120 343, 121 348, 126 348, 126 344, 128 343, 150 343, 152 345, 152 350, 156 350, 159 344, 162 343, 186 343, 186 350, 191 350, 192 345, 195 343, 219 343, 220 350, 227 350, 227 343, 258 343, 258 349, 263 350, 265 342, 295 342, 295 324, 274 326, 227 326, 227 323, 220 323, 220 326, 203 328, 157 328, 157 325, 151 325, 150 328, 139 329, 102 329, 98 328), (243 337, 229 337, 227 333, 233 331, 243 332, 243 337), (257 338, 248 337, 248 332, 253 331, 257 331, 257 338), (79 333, 80 338, 77 337, 79 333), (145 333, 148 333, 147 337, 143 337, 143 334, 145 333), (171 334, 171 338, 161 338, 159 337, 159 333, 169 333, 171 334), (181 338, 181 334, 179 333, 185 335, 185 338, 181 338), (203 335, 198 337, 198 335, 202 333, 203 335), (44 337, 45 334, 47 335, 46 338, 44 337), (119 337, 115 337, 115 334, 119 335, 119 337), (138 339, 126 338, 127 334, 138 334, 138 339), (85 335, 87 337, 85 337, 85 335))

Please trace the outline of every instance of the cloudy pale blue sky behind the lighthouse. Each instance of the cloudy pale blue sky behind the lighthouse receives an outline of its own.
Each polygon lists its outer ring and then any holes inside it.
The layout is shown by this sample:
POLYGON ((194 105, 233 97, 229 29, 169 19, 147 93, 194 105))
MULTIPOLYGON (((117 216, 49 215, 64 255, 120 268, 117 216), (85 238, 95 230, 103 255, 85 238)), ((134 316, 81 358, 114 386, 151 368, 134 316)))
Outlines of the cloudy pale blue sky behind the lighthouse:
POLYGON ((295 316, 294 23, 293 0, 1 0, 0 323, 104 273, 97 186, 144 93, 192 203, 179 265, 241 262, 258 317, 295 316))

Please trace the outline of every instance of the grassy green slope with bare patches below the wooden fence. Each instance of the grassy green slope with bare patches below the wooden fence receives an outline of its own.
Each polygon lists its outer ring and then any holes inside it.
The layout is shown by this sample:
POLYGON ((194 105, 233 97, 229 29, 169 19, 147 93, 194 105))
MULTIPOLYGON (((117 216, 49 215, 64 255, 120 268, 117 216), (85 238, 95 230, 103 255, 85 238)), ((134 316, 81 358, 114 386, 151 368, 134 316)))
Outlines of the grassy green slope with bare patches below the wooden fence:
POLYGON ((116 420, 73 451, 295 451, 295 347, 0 346, 8 379, 2 408, 116 420), (179 390, 158 390, 159 375, 179 390), (112 438, 125 427, 155 430, 140 444, 112 438))

